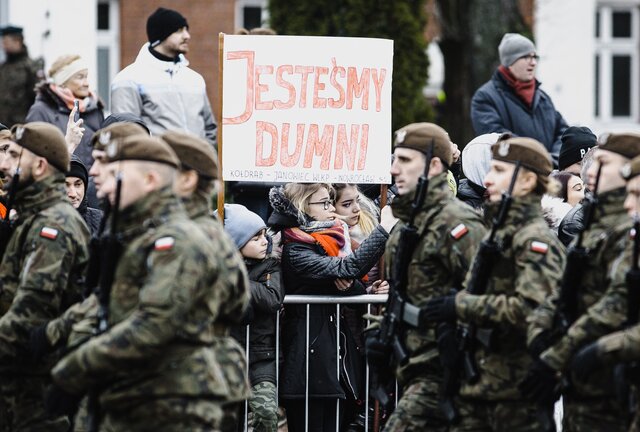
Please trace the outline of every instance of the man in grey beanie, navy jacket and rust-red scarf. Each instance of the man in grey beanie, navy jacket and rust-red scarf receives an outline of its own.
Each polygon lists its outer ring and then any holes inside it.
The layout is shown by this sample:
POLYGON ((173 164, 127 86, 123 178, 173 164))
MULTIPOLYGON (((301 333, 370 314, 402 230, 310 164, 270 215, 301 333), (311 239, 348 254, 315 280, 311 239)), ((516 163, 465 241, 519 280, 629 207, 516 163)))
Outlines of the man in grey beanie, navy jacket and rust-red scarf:
POLYGON ((567 128, 551 98, 535 79, 536 46, 526 37, 507 33, 498 46, 500 66, 471 100, 476 135, 510 132, 540 141, 558 164, 560 136, 567 128))

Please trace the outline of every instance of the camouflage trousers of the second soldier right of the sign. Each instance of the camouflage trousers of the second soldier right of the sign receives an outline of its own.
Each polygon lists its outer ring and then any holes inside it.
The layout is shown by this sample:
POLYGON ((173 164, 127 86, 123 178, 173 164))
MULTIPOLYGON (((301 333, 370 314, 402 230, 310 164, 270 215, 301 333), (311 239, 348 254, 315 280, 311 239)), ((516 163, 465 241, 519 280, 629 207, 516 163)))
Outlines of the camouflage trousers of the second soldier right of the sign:
MULTIPOLYGON (((481 401, 456 398, 460 422, 450 432, 540 432, 540 410, 528 401, 481 401)), ((552 414, 550 412, 550 414, 552 414)))

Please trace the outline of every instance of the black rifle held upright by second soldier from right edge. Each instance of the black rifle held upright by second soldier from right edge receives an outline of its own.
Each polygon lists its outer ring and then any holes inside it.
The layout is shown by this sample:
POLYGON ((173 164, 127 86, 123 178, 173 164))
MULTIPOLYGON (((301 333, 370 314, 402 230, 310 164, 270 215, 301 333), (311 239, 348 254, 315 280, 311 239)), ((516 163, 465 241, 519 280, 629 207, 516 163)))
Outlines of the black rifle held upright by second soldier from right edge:
POLYGON ((560 284, 560 295, 551 332, 552 340, 565 334, 571 324, 578 319, 578 289, 582 282, 584 269, 587 268, 589 251, 582 246, 584 233, 589 230, 593 222, 596 208, 598 206, 598 184, 600 183, 600 173, 602 165, 598 167, 596 184, 594 190, 587 195, 584 204, 584 226, 578 232, 578 238, 571 245, 567 252, 567 264, 562 274, 560 284))

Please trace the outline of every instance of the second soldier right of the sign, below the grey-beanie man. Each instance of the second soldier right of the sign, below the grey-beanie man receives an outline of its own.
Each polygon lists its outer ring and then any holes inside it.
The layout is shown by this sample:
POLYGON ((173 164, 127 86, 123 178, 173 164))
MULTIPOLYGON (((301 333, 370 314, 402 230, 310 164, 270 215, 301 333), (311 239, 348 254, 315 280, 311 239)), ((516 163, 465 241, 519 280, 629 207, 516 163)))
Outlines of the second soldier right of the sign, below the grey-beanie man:
MULTIPOLYGON (((452 431, 541 431, 537 406, 524 399, 518 382, 531 357, 526 346, 526 318, 557 287, 564 265, 564 250, 549 230, 540 206, 552 170, 551 156, 531 138, 507 138, 491 147, 491 169, 485 177, 488 213, 495 213, 501 194, 508 190, 520 162, 513 188, 513 203, 495 239, 501 251, 492 267, 486 292, 459 292, 427 305, 428 319, 456 317, 475 324, 489 341, 478 341, 475 363, 479 379, 464 382, 458 407, 460 423, 452 431)), ((475 259, 478 259, 476 257, 475 259)), ((475 272, 474 272, 475 273, 475 272)), ((467 274, 465 287, 475 274, 467 274)))

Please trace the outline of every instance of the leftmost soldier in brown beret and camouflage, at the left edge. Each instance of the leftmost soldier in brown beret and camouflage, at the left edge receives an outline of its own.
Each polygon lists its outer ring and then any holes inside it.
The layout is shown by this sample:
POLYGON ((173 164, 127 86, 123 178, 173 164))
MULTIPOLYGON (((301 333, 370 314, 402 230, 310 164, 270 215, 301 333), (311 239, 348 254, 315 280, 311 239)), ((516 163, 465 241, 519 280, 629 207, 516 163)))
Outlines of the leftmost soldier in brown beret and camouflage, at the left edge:
POLYGON ((17 217, 0 263, 0 431, 69 427, 65 417, 48 418, 43 406, 55 358, 33 362, 27 351, 30 331, 82 293, 89 229, 66 199, 68 168, 69 153, 58 129, 40 122, 13 127, 0 158, 5 178, 21 172, 17 217))

